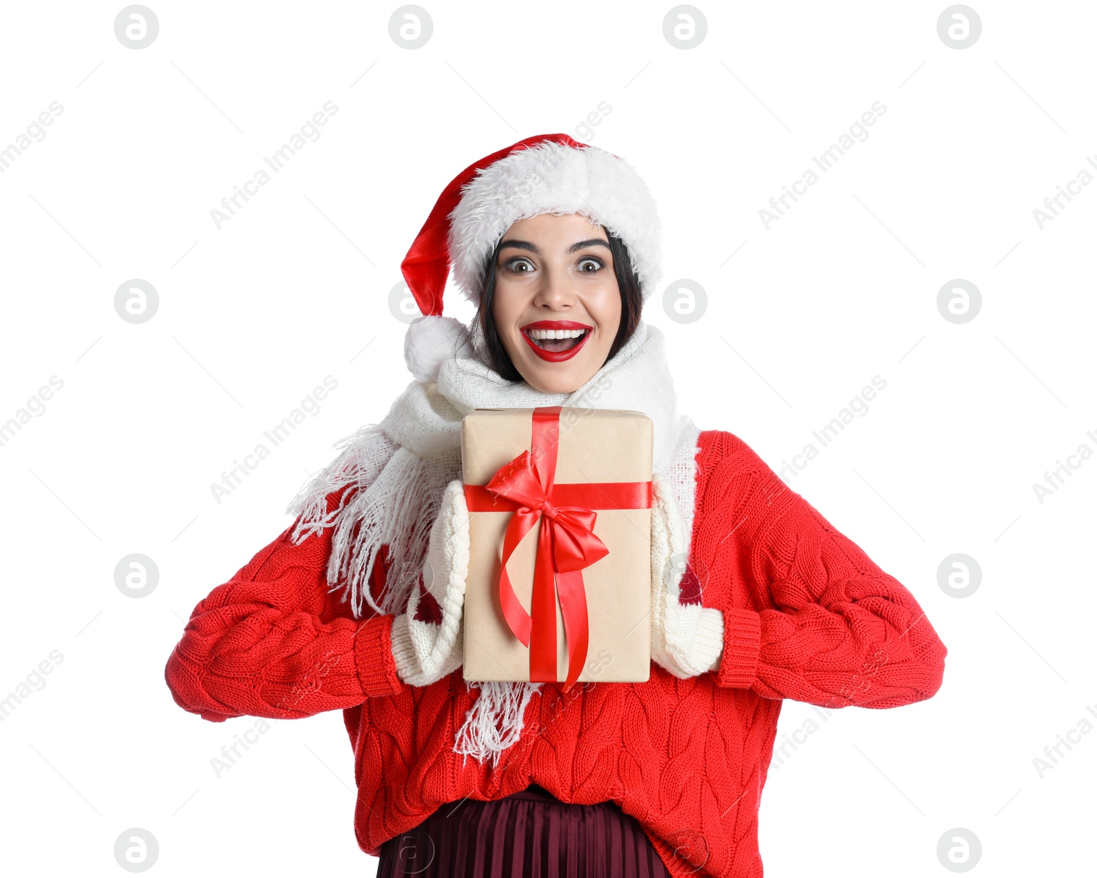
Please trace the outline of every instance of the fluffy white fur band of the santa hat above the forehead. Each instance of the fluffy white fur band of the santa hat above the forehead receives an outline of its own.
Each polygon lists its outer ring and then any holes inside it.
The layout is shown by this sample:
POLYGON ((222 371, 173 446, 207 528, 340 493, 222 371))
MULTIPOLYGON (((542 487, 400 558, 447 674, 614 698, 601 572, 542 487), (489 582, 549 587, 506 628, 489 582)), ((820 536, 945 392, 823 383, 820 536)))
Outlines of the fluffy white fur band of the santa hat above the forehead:
POLYGON ((647 185, 624 159, 597 146, 546 140, 498 159, 462 190, 450 214, 453 280, 478 303, 484 261, 519 219, 580 213, 624 241, 647 299, 663 271, 661 226, 647 185))

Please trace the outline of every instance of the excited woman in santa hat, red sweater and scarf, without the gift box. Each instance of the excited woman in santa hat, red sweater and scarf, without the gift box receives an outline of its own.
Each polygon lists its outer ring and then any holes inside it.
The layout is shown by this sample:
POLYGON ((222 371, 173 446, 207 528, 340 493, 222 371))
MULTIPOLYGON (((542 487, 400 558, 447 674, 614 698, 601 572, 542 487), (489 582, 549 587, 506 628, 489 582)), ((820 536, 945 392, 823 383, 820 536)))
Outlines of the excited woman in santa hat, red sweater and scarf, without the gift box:
POLYGON ((760 876, 781 700, 886 708, 941 685, 914 597, 742 439, 677 413, 640 319, 659 263, 654 202, 617 156, 541 135, 462 171, 402 264, 427 315, 405 344, 416 380, 168 662, 177 702, 211 721, 343 710, 378 876, 760 876), (472 331, 441 316, 451 264, 472 331), (461 675, 461 418, 547 405, 654 423, 645 683, 461 675))

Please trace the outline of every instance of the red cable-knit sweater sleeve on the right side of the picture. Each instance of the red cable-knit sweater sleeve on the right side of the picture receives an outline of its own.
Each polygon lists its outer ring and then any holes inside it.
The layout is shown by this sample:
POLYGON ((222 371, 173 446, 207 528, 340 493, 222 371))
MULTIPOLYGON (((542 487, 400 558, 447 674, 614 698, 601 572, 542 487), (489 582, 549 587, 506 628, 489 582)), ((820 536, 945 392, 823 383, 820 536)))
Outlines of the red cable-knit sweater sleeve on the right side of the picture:
POLYGON ((829 708, 930 698, 948 651, 914 596, 736 441, 705 495, 723 509, 713 561, 739 582, 717 683, 829 708))

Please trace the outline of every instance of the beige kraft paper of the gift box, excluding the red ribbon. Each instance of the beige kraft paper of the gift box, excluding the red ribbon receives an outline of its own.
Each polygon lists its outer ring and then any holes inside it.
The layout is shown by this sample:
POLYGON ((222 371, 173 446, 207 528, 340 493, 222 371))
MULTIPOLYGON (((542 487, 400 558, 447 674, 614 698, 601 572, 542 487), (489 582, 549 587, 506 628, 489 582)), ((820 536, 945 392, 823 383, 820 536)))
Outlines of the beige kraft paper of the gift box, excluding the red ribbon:
MULTIPOLYGON (((533 409, 484 408, 461 425, 464 482, 486 485, 496 471, 531 450, 533 409)), ((649 482, 652 420, 641 412, 563 408, 556 484, 649 482)), ((645 682, 651 674, 651 509, 597 509, 595 534, 609 549, 583 571, 590 640, 579 682, 645 682)), ((507 626, 499 604, 499 562, 511 511, 470 514, 465 586, 464 678, 529 680, 530 651, 507 626)), ((530 611, 541 522, 507 564, 514 593, 530 611)), ((567 679, 567 640, 556 597, 557 680, 567 679)))

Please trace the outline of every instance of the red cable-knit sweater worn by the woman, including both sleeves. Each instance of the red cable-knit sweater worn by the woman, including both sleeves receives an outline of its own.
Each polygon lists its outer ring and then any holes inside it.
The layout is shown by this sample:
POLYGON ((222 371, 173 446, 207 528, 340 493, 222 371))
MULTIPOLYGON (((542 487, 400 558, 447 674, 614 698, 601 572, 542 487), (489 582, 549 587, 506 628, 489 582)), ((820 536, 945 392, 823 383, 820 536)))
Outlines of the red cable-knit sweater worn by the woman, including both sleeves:
MULTIPOLYGON (((540 784, 566 802, 617 802, 671 875, 762 875, 758 807, 781 699, 887 708, 932 696, 946 648, 917 601, 740 439, 700 437, 682 599, 724 614, 719 671, 652 664, 646 683, 544 684, 493 769, 451 750, 476 690, 461 669, 404 684, 391 616, 355 620, 329 593, 331 530, 287 528, 186 623, 166 677, 180 707, 222 722, 341 709, 358 775, 354 829, 382 842, 445 802, 540 784)), ((335 508, 337 496, 329 498, 335 508)), ((383 584, 383 570, 372 587, 383 584)))

